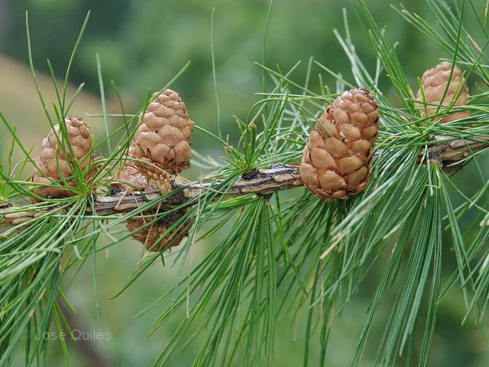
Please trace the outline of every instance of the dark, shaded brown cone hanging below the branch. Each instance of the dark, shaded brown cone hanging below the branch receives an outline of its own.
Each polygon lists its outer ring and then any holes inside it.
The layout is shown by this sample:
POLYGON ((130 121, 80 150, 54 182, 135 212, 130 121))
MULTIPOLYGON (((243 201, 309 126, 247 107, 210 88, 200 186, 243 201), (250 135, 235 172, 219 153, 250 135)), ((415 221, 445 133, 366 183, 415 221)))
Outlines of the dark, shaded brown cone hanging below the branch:
MULTIPOLYGON (((165 234, 167 229, 175 224, 175 222, 177 222, 177 220, 179 220, 186 212, 187 209, 182 209, 170 213, 166 217, 161 218, 161 220, 148 224, 144 228, 133 233, 132 237, 145 245, 146 250, 154 252, 160 252, 166 248, 178 246, 184 238, 189 236, 191 220, 187 220, 187 222, 184 222, 184 224, 180 225, 170 233, 166 233, 165 237, 158 245, 154 246, 154 244, 161 236, 163 236, 163 234, 165 234)), ((143 214, 150 215, 151 213, 145 212, 143 214)), ((128 231, 132 232, 149 222, 152 222, 152 218, 132 219, 126 221, 126 227, 128 231)))

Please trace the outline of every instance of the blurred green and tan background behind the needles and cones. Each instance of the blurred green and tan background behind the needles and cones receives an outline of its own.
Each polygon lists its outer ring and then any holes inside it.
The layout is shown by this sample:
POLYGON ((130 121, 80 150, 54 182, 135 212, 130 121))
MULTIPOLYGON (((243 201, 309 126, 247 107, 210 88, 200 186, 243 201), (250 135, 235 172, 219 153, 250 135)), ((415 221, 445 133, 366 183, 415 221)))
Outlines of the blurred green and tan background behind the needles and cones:
MULTIPOLYGON (((389 1, 370 0, 367 4, 378 22, 387 24, 393 39, 400 42, 397 47, 398 55, 411 85, 415 86, 416 76, 434 66, 437 59, 449 57, 404 22, 390 8, 389 1)), ((406 5, 430 19, 425 1, 411 0, 406 5)), ((481 14, 485 5, 486 1, 474 1, 476 10, 481 14)), ((110 80, 115 80, 121 90, 126 110, 136 110, 143 103, 149 88, 159 89, 190 60, 189 69, 173 84, 173 89, 182 94, 189 113, 197 124, 210 131, 217 131, 210 43, 210 20, 212 8, 215 7, 217 89, 221 102, 221 119, 224 134, 235 139, 237 129, 233 115, 245 116, 259 98, 255 93, 261 91, 261 69, 254 62, 261 62, 268 6, 269 3, 265 0, 0 0, 0 110, 10 123, 15 123, 24 144, 33 146, 33 154, 38 154, 41 138, 47 134, 49 125, 43 118, 41 104, 27 66, 24 11, 29 10, 34 65, 41 88, 47 96, 46 99, 54 101, 54 90, 50 85, 45 59, 50 59, 57 77, 61 79, 85 14, 87 10, 91 10, 89 25, 71 73, 71 93, 81 82, 86 82, 84 92, 75 103, 73 114, 85 116, 87 112, 101 111, 96 52, 101 59, 108 110, 112 112, 118 112, 119 109, 115 95, 110 90, 110 80)), ((348 59, 333 34, 334 28, 344 33, 343 7, 349 13, 356 50, 365 64, 373 70, 375 58, 363 30, 356 22, 351 3, 333 0, 275 1, 265 64, 272 67, 279 64, 282 70, 286 70, 302 60, 302 65, 293 74, 293 80, 302 82, 307 60, 312 56, 351 80, 348 59)), ((316 68, 312 75, 317 73, 319 69, 316 68)), ((334 91, 334 80, 328 78, 324 71, 321 73, 326 84, 334 91)), ((474 80, 469 82, 474 84, 474 80)), ((317 78, 313 78, 312 83, 317 85, 317 78)), ((385 75, 381 78, 381 87, 395 103, 396 96, 385 75)), ((102 136, 101 121, 86 118, 95 134, 102 136)), ((117 124, 117 121, 113 124, 117 124)), ((0 134, 3 138, 6 130, 0 128, 0 134)), ((198 132, 193 138, 193 147, 201 154, 211 154, 216 159, 222 154, 214 142, 198 132)), ((18 159, 21 157, 19 153, 18 159)), ((465 168, 465 173, 465 177, 475 174, 474 167, 465 168)), ((197 175, 198 170, 194 168, 192 174, 197 175)), ((466 185, 468 192, 470 185, 479 185, 476 180, 460 179, 459 182, 466 185)), ((197 245, 193 250, 194 263, 203 258, 210 247, 212 243, 197 245)), ((449 269, 453 256, 449 254, 448 240, 446 247, 448 266, 445 269, 449 269)), ((129 279, 131 270, 137 268, 140 254, 140 246, 126 240, 117 247, 112 247, 110 253, 98 256, 101 322, 96 317, 91 265, 87 264, 71 284, 67 295, 78 311, 74 321, 87 331, 110 333, 108 340, 88 343, 89 349, 102 357, 100 361, 96 361, 85 350, 87 343, 71 345, 73 366, 148 366, 179 324, 180 320, 175 319, 173 324, 159 329, 151 338, 145 338, 164 303, 143 317, 133 319, 137 312, 155 301, 175 281, 175 269, 163 268, 159 262, 122 296, 110 301, 109 298, 129 279)), ((328 350, 328 366, 346 366, 349 363, 353 347, 363 328, 365 311, 377 285, 381 261, 378 267, 370 275, 371 278, 364 282, 358 296, 346 307, 344 316, 335 322, 328 350)), ((392 296, 393 294, 394 292, 392 296)), ((389 311, 391 301, 392 298, 386 298, 383 308, 379 310, 372 339, 368 344, 369 349, 365 353, 364 366, 372 365, 384 326, 383 315, 389 311)), ((465 306, 459 292, 451 292, 441 303, 432 366, 489 365, 489 348, 481 327, 473 326, 471 322, 461 327, 460 320, 464 313, 465 306)), ((183 310, 180 316, 184 317, 183 310)), ((279 322, 275 358, 271 361, 271 366, 302 365, 304 323, 302 320, 295 323, 289 319, 279 322)), ((199 340, 194 340, 180 354, 175 354, 168 366, 189 366, 199 347, 199 340)), ((64 364, 59 343, 51 343, 49 349, 49 365, 64 364)), ((316 361, 317 352, 317 345, 313 345, 309 359, 312 365, 316 361)), ((19 358, 19 364, 21 363, 22 359, 19 358)))

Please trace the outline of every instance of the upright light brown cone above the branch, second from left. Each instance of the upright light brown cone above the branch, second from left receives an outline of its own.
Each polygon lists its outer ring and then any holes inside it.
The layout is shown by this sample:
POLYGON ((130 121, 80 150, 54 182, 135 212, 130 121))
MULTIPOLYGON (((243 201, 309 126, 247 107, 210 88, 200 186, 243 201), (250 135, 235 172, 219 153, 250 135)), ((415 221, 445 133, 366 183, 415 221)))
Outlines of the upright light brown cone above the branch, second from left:
POLYGON ((136 131, 129 154, 147 164, 137 164, 141 173, 168 191, 168 175, 175 175, 190 166, 190 134, 194 122, 189 120, 180 95, 166 89, 154 94, 136 131))

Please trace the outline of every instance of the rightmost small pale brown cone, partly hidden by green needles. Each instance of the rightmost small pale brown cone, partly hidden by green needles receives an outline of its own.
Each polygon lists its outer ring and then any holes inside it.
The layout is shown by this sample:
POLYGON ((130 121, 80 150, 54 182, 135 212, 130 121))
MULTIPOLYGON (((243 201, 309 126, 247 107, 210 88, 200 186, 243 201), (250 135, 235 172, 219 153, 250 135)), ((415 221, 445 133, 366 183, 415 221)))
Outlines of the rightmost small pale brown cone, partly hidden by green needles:
MULTIPOLYGON (((467 88, 465 79, 462 76, 462 71, 458 69, 458 66, 453 67, 452 78, 448 81, 448 78, 450 78, 451 68, 452 64, 450 62, 442 62, 441 64, 435 66, 435 69, 428 69, 425 71, 425 73, 423 73, 421 81, 423 83, 423 92, 425 94, 424 99, 421 90, 418 91, 416 99, 423 103, 430 103, 426 106, 428 116, 434 115, 437 112, 437 106, 450 105, 455 97, 456 100, 453 106, 465 106, 467 105, 467 101, 469 101, 469 89, 467 88), (448 86, 443 101, 441 101, 448 82, 450 85, 448 86)), ((425 107, 422 106, 421 116, 425 117, 425 115, 425 107)), ((469 116, 470 111, 455 112, 444 117, 441 122, 450 122, 469 116)), ((439 120, 439 118, 436 120, 439 120)))

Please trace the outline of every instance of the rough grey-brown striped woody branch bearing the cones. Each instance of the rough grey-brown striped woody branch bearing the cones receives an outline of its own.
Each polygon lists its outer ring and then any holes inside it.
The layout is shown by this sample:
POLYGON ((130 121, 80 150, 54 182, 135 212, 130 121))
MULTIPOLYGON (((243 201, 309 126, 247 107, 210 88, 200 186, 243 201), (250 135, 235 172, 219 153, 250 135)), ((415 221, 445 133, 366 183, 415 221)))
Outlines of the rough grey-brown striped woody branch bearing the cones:
MULTIPOLYGON (((489 147, 489 138, 487 136, 476 136, 474 137, 474 141, 466 141, 464 139, 453 141, 449 136, 434 136, 432 139, 439 141, 439 143, 428 145, 428 148, 423 148, 419 154, 418 161, 424 163, 426 157, 425 149, 428 149, 429 161, 436 161, 446 172, 458 171, 467 162, 467 158, 471 157, 474 152, 489 147)), ((380 152, 379 150, 375 154, 375 157, 380 152)), ((273 192, 293 189, 302 185, 298 165, 277 163, 272 164, 270 168, 254 168, 246 171, 230 189, 226 192, 219 193, 226 196, 247 194, 267 196, 273 192)), ((179 206, 185 201, 196 197, 203 190, 217 190, 219 181, 200 185, 195 182, 189 183, 187 180, 177 176, 173 179, 172 186, 174 193, 163 199, 161 203, 163 208, 179 206)), ((162 194, 158 189, 152 189, 147 192, 132 192, 131 194, 117 192, 110 196, 96 195, 94 198, 94 211, 97 215, 127 213, 138 208, 143 203, 158 199, 161 196, 162 194)), ((3 207, 0 206, 0 226, 22 224, 42 214, 41 212, 35 211, 23 211, 22 207, 5 206, 3 204, 3 207)), ((93 214, 92 208, 87 208, 87 214, 93 214)))

